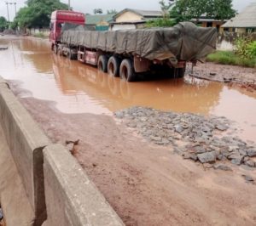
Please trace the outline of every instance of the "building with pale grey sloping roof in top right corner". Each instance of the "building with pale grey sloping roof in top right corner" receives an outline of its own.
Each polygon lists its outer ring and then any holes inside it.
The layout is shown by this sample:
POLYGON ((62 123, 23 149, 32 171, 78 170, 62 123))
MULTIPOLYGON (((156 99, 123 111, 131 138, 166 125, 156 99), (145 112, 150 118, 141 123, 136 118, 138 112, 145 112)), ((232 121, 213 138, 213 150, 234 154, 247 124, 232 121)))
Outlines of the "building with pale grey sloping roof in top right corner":
POLYGON ((256 3, 251 3, 240 14, 222 25, 224 31, 256 32, 256 3))

